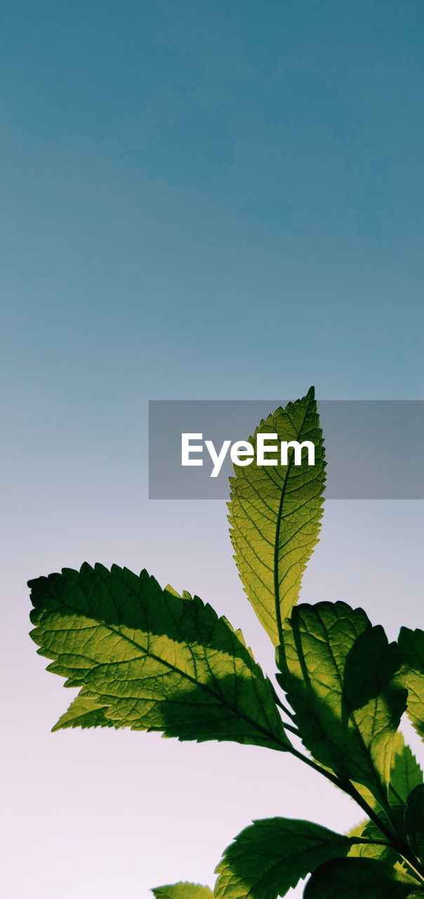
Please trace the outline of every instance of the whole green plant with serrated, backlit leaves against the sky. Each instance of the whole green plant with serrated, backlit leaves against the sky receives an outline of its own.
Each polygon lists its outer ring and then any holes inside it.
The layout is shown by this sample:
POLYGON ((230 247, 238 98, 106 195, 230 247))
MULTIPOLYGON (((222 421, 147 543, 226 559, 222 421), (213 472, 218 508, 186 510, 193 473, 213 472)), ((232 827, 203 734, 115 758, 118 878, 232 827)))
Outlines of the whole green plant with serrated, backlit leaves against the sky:
POLYGON ((398 729, 406 710, 424 736, 424 632, 402 628, 389 644, 362 609, 296 605, 325 480, 313 388, 257 432, 315 445, 314 466, 289 456, 286 467, 237 467, 230 479, 235 561, 276 646, 285 696, 241 632, 199 597, 162 589, 146 571, 84 564, 30 582, 38 651, 80 688, 53 729, 131 727, 291 752, 366 815, 346 835, 287 818, 254 821, 225 850, 215 894, 175 884, 156 888, 157 899, 276 899, 309 873, 305 899, 424 895, 424 785, 398 729))

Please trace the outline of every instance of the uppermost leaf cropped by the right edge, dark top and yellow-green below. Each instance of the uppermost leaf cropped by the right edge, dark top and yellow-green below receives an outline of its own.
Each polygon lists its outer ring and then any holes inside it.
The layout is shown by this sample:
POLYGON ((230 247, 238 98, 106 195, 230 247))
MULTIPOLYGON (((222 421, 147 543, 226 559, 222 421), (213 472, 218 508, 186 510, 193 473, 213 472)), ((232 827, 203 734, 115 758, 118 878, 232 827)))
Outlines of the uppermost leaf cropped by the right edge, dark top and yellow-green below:
POLYGON ((403 682, 408 690, 408 716, 424 740, 424 630, 401 628, 398 639, 403 669, 403 682))

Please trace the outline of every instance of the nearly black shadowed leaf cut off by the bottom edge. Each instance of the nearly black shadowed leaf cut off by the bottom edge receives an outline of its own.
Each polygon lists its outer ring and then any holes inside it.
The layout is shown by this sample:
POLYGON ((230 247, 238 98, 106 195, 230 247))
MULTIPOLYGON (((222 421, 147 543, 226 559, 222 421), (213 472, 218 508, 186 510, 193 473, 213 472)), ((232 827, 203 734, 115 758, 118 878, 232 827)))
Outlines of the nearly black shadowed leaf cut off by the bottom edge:
POLYGON ((314 871, 304 899, 405 899, 416 889, 411 878, 375 859, 333 859, 314 871))

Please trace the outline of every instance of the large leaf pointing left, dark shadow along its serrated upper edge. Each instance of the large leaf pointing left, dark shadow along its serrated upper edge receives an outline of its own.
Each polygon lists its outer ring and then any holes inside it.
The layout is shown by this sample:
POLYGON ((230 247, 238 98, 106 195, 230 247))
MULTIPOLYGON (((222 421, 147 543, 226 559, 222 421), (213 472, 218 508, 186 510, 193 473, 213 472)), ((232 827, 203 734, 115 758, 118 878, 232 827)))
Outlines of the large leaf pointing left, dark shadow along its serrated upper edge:
POLYGON ((31 636, 54 660, 48 670, 82 687, 80 699, 107 707, 113 725, 181 740, 289 746, 243 636, 199 597, 181 598, 146 572, 117 565, 109 572, 84 564, 30 586, 31 636))

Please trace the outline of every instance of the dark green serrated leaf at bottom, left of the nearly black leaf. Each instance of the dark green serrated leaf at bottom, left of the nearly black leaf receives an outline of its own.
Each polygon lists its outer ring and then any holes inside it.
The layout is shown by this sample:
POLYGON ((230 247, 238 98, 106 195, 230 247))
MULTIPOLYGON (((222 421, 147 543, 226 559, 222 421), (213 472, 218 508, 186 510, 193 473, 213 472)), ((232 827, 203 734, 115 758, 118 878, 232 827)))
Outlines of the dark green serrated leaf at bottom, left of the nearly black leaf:
POLYGON ((276 899, 351 841, 309 821, 266 818, 235 837, 216 868, 216 899, 276 899))

